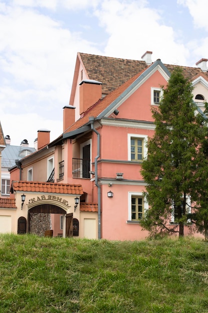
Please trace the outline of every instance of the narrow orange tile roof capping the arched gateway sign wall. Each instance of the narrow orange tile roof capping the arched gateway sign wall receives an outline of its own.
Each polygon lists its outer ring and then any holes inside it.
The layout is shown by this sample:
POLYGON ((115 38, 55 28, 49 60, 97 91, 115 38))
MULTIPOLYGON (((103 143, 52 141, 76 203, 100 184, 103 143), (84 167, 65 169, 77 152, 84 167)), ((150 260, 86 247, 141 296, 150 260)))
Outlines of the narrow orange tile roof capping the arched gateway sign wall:
POLYGON ((12 181, 12 191, 49 192, 65 194, 83 194, 81 184, 39 182, 39 181, 12 181))

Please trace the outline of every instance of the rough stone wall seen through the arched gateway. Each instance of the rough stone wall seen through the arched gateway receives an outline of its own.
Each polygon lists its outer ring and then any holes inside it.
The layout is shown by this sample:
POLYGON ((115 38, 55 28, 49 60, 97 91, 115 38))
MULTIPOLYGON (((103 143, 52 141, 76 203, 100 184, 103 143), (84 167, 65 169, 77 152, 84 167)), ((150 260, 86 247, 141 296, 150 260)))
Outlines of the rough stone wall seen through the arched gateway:
POLYGON ((51 229, 50 213, 30 213, 30 233, 44 236, 45 230, 51 229))

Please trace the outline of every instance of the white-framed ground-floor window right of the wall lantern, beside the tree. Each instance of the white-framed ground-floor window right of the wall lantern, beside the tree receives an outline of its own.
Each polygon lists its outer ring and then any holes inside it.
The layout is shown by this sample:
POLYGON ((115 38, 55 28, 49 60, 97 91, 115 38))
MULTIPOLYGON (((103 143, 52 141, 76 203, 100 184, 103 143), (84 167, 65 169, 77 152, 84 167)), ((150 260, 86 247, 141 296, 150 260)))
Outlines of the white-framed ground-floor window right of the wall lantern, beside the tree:
POLYGON ((129 192, 128 195, 128 221, 139 222, 145 211, 148 209, 148 203, 143 192, 129 192))

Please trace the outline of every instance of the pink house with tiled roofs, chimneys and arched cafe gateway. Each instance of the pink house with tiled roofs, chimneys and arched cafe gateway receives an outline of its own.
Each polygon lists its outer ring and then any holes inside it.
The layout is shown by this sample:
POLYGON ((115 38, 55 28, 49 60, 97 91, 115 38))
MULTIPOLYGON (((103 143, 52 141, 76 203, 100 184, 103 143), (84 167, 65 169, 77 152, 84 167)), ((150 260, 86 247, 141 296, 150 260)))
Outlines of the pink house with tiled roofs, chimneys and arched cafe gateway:
MULTIPOLYGON (((21 159, 21 169, 11 170, 11 177, 19 170, 22 177, 11 186, 16 199, 16 226, 11 231, 18 232, 20 217, 28 231, 34 213, 49 213, 54 235, 112 240, 148 236, 140 226, 148 209, 140 170, 155 129, 151 108, 159 105, 161 86, 175 68, 160 59, 152 62, 151 57, 151 51, 140 61, 77 54, 61 135, 50 142, 49 131, 39 130, 37 151, 21 159), (26 198, 21 209, 22 192, 26 198)), ((206 62, 182 66, 195 87, 200 112, 208 99, 206 62)))

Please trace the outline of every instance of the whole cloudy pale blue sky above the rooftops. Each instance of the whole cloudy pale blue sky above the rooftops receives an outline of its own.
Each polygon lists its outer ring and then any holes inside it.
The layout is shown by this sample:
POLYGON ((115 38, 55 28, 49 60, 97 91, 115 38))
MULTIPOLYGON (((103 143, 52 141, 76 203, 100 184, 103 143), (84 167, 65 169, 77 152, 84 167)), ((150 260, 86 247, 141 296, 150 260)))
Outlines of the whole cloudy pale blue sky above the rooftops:
POLYGON ((0 0, 0 122, 12 145, 62 133, 77 52, 196 66, 207 0, 0 0))

